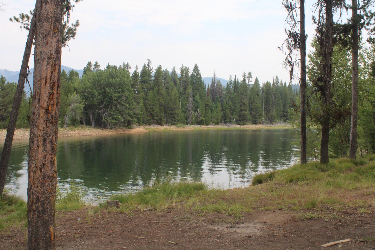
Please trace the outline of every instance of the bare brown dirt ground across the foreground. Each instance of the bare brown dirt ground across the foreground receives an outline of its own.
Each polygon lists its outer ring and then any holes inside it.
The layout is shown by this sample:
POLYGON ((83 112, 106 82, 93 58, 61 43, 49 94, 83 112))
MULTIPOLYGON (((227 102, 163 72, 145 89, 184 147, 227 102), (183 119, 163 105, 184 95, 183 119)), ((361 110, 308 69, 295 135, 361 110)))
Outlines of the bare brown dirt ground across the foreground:
MULTIPOLYGON (((131 215, 102 210, 100 216, 83 209, 56 214, 56 246, 58 250, 370 250, 375 249, 374 212, 373 208, 366 214, 342 211, 335 219, 301 220, 293 212, 257 210, 236 220, 174 208, 131 215), (320 246, 348 238, 352 240, 347 243, 320 246)), ((0 249, 26 249, 26 235, 26 228, 5 229, 0 232, 0 249)))

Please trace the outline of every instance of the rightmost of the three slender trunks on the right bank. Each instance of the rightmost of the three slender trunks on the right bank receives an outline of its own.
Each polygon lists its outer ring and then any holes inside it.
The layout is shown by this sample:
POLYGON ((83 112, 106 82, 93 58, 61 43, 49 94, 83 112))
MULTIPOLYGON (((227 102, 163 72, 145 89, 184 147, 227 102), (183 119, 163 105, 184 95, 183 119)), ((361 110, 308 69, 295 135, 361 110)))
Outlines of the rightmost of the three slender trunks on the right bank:
POLYGON ((358 120, 358 25, 357 0, 352 0, 353 38, 352 38, 352 112, 350 123, 349 157, 356 159, 357 152, 357 120, 358 120))

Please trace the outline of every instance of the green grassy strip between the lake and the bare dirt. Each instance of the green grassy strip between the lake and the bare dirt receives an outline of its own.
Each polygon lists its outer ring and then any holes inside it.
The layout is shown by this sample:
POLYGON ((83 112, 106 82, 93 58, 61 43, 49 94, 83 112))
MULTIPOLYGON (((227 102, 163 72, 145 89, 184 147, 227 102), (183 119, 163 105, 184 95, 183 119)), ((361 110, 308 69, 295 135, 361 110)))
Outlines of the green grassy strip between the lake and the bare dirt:
MULTIPOLYGON (((242 189, 208 189, 204 183, 164 181, 135 194, 114 195, 120 208, 107 208, 106 202, 88 210, 94 213, 143 211, 165 212, 172 208, 207 213, 223 213, 238 219, 252 211, 284 210, 299 213, 301 219, 330 219, 344 210, 371 213, 375 206, 375 155, 350 160, 332 160, 328 165, 311 162, 288 169, 257 174, 253 186, 242 189)), ((84 207, 74 185, 57 195, 57 211, 84 207)), ((0 201, 0 228, 26 224, 26 203, 15 196, 0 201)))

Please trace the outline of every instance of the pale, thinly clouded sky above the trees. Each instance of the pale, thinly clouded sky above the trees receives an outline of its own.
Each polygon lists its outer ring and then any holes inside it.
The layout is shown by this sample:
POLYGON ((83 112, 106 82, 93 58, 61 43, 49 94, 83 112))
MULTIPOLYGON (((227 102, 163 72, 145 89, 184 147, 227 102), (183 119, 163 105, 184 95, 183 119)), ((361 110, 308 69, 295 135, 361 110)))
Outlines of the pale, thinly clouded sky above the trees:
MULTIPOLYGON (((18 71, 27 31, 9 18, 33 9, 35 1, 0 0, 0 69, 18 71)), ((315 34, 312 0, 306 0, 308 43, 315 34)), ((62 64, 83 69, 87 61, 139 69, 149 58, 154 69, 198 64, 202 77, 252 72, 260 82, 278 75, 289 81, 278 49, 286 38, 281 0, 84 0, 74 7, 75 40, 63 48, 62 64)), ((308 46, 309 48, 309 46, 308 46)), ((33 58, 30 58, 30 68, 33 58)))

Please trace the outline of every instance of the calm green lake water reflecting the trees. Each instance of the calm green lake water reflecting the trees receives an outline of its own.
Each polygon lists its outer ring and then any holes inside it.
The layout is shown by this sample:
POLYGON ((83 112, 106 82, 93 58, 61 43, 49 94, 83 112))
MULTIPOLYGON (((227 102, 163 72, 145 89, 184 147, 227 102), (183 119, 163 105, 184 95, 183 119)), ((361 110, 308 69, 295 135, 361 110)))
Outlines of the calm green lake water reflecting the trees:
MULTIPOLYGON (((58 185, 73 180, 97 202, 155 178, 243 187, 254 173, 297 162, 293 130, 150 132, 58 139, 58 185)), ((1 142, 3 144, 3 142, 1 142)), ((6 188, 26 198, 28 141, 13 143, 6 188)))

